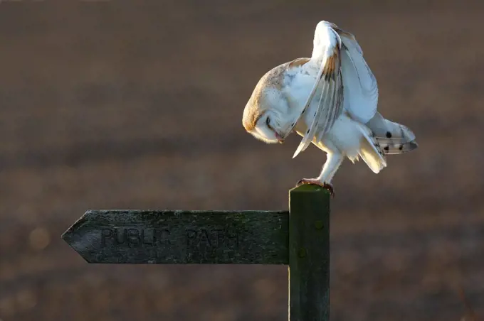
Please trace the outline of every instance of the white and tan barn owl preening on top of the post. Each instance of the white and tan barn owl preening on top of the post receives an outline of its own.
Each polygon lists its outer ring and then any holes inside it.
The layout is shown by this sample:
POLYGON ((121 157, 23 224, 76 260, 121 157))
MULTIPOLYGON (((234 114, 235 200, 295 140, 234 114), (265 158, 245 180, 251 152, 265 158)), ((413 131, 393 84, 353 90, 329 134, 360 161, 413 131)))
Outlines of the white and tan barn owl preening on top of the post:
POLYGON ((414 133, 377 111, 378 85, 352 33, 320 21, 311 58, 297 58, 269 70, 243 110, 242 124, 265 143, 283 143, 293 131, 302 140, 293 158, 310 143, 327 153, 316 184, 334 196, 331 180, 344 158, 362 158, 379 173, 386 155, 417 148, 414 133))

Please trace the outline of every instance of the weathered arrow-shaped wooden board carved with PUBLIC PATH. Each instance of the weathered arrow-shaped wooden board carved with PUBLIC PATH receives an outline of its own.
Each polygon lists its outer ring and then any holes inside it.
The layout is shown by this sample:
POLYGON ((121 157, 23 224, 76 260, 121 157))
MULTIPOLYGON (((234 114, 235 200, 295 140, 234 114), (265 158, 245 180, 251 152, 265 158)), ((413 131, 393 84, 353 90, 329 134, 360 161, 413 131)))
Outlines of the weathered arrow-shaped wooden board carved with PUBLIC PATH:
POLYGON ((91 210, 62 236, 89 263, 288 263, 287 211, 91 210))

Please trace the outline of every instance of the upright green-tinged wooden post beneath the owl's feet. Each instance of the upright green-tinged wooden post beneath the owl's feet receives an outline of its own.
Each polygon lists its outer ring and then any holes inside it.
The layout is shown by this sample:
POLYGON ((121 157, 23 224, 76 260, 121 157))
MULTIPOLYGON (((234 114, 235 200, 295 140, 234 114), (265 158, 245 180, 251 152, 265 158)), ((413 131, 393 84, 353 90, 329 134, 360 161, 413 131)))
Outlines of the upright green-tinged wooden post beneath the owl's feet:
POLYGON ((301 185, 289 192, 290 321, 330 320, 330 194, 301 185))

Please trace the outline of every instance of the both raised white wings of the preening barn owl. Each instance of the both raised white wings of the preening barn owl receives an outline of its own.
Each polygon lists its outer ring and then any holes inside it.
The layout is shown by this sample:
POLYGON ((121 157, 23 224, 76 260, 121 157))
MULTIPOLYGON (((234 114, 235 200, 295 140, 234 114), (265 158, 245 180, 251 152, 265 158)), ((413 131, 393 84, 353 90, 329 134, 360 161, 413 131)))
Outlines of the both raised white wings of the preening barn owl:
POLYGON ((362 48, 351 33, 334 23, 320 21, 315 30, 311 60, 320 68, 298 121, 307 113, 319 87, 321 96, 316 113, 310 118, 311 124, 293 158, 310 145, 316 132, 325 134, 330 131, 343 108, 362 124, 366 124, 377 113, 377 80, 364 60, 362 48))

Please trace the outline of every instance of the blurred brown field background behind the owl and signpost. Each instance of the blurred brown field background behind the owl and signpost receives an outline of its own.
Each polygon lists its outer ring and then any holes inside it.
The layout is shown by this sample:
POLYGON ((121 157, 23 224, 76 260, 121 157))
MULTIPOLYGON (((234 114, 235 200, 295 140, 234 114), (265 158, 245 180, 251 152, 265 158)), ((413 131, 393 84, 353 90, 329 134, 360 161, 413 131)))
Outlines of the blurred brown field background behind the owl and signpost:
MULTIPOLYGON (((332 202, 332 320, 484 317, 480 1, 0 1, 0 319, 287 320, 285 266, 88 265, 85 210, 281 210, 317 175, 243 107, 324 19, 357 36, 379 109, 419 149, 332 202), (466 305, 468 307, 466 307, 466 305)), ((475 320, 478 320, 477 318, 475 320)), ((482 320, 482 319, 481 319, 482 320)))

